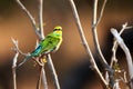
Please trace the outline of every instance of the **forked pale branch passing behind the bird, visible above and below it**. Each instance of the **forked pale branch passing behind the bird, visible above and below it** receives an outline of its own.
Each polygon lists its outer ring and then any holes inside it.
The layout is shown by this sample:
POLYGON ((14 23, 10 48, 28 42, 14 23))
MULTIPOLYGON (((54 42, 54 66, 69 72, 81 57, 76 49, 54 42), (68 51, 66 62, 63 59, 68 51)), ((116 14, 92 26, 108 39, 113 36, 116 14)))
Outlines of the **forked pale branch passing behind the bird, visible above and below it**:
MULTIPOLYGON (((40 29, 38 29, 35 27, 35 20, 33 19, 33 17, 31 16, 31 13, 27 10, 27 8, 20 2, 20 0, 16 0, 17 3, 21 7, 21 9, 27 13, 27 16, 29 17, 29 19, 31 20, 31 23, 33 26, 33 30, 34 32, 37 33, 37 36, 40 38, 40 40, 42 40, 44 38, 44 34, 43 34, 43 18, 42 18, 42 8, 43 8, 43 0, 40 0, 40 3, 39 3, 39 26, 40 26, 40 29), (40 32, 39 32, 40 30, 40 32)), ((51 59, 51 56, 48 55, 48 63, 49 63, 49 68, 53 75, 53 79, 54 79, 54 85, 55 85, 55 88, 57 89, 60 89, 60 85, 59 85, 59 80, 58 80, 58 76, 57 76, 57 72, 55 72, 55 69, 54 69, 54 66, 53 66, 53 62, 52 62, 52 59, 51 59)), ((44 76, 44 73, 43 73, 44 76)))

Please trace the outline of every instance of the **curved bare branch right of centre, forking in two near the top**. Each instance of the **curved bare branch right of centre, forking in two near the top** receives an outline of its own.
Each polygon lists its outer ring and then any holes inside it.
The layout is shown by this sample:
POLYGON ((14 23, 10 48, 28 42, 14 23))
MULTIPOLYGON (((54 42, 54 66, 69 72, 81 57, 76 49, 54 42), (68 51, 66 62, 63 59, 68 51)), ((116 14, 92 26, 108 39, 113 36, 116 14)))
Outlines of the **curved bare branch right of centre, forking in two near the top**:
MULTIPOLYGON (((92 33, 93 33, 93 40, 94 40, 94 46, 95 46, 95 50, 100 57, 100 60, 102 62, 102 65, 104 66, 105 69, 108 69, 108 71, 110 72, 113 72, 113 70, 110 68, 110 66, 108 65, 102 51, 101 51, 101 48, 100 48, 100 43, 99 43, 99 39, 98 39, 98 32, 96 32, 96 16, 98 16, 98 1, 99 0, 94 0, 94 6, 93 6, 93 20, 92 20, 92 33)), ((105 0, 106 2, 106 0, 105 0)), ((104 2, 104 6, 105 6, 105 2, 104 2)), ((101 12, 101 16, 100 18, 102 18, 102 13, 103 13, 103 10, 104 10, 104 6, 102 8, 102 12, 101 12)), ((100 19, 101 20, 101 19, 100 19)), ((99 20, 99 22, 100 22, 99 20)))

